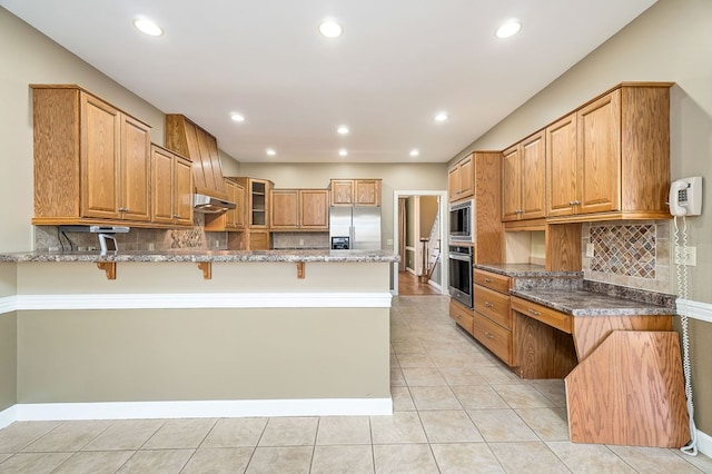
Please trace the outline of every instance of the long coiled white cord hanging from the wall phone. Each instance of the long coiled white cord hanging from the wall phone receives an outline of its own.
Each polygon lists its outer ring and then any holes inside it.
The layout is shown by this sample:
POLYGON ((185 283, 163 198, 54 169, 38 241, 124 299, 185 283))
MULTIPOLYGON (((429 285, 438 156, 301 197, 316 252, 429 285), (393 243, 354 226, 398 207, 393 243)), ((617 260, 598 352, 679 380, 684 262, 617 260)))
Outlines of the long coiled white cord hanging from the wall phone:
POLYGON ((682 327, 682 368, 685 376, 685 397, 688 398, 688 417, 690 418, 690 442, 680 451, 698 455, 698 428, 694 424, 694 403, 692 402, 692 365, 690 363, 690 334, 688 332, 688 267, 681 261, 688 260, 688 221, 682 217, 682 247, 678 216, 674 218, 675 257, 678 258, 678 315, 682 327))

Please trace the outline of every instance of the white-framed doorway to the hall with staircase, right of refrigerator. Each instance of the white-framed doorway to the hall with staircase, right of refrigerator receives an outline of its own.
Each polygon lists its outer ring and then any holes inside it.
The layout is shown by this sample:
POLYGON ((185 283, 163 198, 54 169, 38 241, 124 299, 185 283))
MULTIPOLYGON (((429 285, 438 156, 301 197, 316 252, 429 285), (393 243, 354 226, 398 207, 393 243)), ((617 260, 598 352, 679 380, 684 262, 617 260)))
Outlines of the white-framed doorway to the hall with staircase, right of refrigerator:
POLYGON ((394 295, 447 295, 447 191, 394 191, 393 199, 393 241, 400 255, 394 295))

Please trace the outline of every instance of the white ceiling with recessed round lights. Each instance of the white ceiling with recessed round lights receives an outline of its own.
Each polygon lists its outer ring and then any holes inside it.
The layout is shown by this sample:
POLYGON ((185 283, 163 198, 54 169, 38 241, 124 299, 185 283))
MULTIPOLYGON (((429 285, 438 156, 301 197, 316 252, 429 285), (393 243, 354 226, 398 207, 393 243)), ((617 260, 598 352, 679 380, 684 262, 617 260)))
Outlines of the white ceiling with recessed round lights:
MULTIPOLYGON (((447 161, 656 0, 0 0, 240 161, 447 161), (138 16, 165 34, 138 32, 138 16), (318 31, 325 17, 338 39, 318 31), (496 27, 522 21, 500 40, 496 27), (449 120, 435 122, 446 110, 449 120), (230 120, 239 111, 246 120, 230 120), (338 136, 336 127, 350 134, 338 136), (277 150, 267 157, 266 148, 277 150), (339 148, 348 157, 337 155, 339 148), (408 155, 418 148, 421 155, 408 155)), ((613 86, 613 85, 612 85, 613 86)))

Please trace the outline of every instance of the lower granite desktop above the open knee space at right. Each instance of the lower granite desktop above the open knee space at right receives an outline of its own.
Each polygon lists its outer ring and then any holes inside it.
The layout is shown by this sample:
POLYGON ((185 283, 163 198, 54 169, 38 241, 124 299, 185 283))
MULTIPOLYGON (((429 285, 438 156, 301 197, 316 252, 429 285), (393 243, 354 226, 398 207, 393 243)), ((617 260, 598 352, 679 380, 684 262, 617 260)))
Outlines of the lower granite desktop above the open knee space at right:
MULTIPOLYGON (((528 299, 572 316, 651 316, 675 313, 670 302, 660 295, 657 303, 630 299, 590 289, 512 289, 510 295, 528 299), (668 304, 663 304, 668 303, 668 304)), ((650 299, 650 298, 647 298, 650 299)))

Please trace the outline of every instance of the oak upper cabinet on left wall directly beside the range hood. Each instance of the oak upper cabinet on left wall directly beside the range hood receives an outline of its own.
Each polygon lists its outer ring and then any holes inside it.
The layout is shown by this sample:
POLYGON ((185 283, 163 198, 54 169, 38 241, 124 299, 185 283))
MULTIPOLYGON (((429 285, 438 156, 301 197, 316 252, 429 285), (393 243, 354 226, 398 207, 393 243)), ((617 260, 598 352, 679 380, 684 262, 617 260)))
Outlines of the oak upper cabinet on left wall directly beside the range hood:
POLYGON ((192 164, 151 145, 152 221, 192 226, 192 164))

